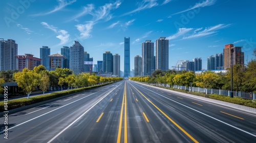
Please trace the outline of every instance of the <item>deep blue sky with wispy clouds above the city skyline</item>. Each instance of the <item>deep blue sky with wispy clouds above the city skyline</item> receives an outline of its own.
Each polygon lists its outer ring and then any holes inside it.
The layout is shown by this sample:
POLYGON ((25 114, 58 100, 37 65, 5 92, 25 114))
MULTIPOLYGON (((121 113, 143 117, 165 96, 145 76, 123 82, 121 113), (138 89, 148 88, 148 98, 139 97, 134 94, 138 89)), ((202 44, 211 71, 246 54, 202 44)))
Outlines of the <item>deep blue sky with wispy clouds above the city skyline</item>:
POLYGON ((130 37, 133 69, 142 42, 166 37, 169 68, 200 57, 206 68, 207 57, 229 43, 243 46, 245 60, 252 58, 255 6, 254 0, 1 0, 0 38, 16 40, 18 55, 35 57, 43 45, 56 54, 77 40, 97 64, 105 51, 119 54, 123 63, 124 37, 130 37))

